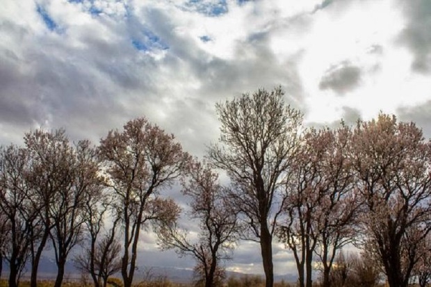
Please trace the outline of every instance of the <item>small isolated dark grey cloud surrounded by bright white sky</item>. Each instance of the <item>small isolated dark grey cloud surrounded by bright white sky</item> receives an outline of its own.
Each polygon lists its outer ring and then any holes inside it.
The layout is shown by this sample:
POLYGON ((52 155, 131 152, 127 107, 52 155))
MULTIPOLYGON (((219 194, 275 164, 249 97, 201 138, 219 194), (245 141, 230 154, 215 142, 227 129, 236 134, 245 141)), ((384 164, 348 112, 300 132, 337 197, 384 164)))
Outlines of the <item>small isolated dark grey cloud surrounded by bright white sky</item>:
POLYGON ((320 90, 333 90, 339 95, 358 87, 361 69, 348 61, 333 65, 320 79, 320 90))

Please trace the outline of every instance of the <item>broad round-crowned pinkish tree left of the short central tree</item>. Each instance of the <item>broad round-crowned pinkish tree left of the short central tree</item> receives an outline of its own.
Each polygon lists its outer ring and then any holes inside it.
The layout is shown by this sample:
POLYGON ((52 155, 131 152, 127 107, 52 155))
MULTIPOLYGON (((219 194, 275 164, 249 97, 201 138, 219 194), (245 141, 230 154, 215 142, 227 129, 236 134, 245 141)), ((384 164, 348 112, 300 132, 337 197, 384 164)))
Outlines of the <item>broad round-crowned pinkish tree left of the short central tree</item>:
POLYGON ((181 176, 190 156, 165 133, 144 117, 131 120, 124 130, 110 131, 102 139, 99 156, 104 161, 108 186, 122 219, 122 278, 130 287, 136 269, 140 229, 151 220, 174 220, 177 205, 158 196, 159 190, 181 176))

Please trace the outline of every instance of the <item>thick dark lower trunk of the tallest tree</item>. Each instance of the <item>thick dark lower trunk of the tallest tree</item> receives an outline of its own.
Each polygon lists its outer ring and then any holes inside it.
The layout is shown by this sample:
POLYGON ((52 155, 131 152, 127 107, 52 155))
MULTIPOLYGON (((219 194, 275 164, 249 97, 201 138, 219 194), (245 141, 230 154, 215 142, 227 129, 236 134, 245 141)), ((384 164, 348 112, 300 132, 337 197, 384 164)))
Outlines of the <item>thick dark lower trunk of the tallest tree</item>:
POLYGON ((274 266, 273 266, 273 237, 268 229, 268 224, 261 224, 261 254, 263 261, 263 271, 265 271, 266 287, 274 285, 274 266))

